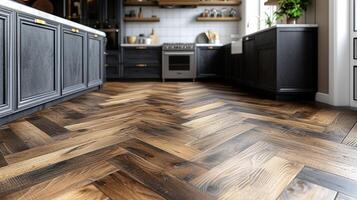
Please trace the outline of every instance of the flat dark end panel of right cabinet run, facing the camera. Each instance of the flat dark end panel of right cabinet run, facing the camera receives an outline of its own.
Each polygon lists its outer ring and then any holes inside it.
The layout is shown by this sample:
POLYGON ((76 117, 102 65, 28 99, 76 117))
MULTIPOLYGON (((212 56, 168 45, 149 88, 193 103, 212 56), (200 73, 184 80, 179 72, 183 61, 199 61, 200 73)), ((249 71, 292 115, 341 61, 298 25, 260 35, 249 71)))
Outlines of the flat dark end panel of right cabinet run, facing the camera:
POLYGON ((317 85, 317 34, 316 29, 278 32, 278 86, 279 90, 314 91, 317 85), (293 48, 291 48, 293 47, 293 48))

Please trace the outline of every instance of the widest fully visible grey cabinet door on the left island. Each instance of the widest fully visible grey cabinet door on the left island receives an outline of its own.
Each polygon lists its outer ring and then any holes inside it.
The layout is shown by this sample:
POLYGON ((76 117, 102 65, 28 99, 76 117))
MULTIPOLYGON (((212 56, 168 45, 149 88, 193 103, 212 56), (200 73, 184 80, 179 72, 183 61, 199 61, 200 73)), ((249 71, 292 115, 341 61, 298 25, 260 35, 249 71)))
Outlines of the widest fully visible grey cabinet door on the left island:
POLYGON ((18 108, 60 96, 60 25, 19 14, 17 18, 18 108))

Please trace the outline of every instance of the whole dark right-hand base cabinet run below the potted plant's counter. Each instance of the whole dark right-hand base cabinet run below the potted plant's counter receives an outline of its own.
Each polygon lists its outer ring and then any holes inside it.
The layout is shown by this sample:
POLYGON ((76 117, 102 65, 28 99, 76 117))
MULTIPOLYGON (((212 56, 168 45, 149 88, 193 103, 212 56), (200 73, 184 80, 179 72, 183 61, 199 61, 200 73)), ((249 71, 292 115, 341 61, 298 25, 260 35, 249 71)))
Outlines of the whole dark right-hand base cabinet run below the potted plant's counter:
POLYGON ((317 28, 278 27, 244 38, 241 83, 276 98, 314 99, 317 28))

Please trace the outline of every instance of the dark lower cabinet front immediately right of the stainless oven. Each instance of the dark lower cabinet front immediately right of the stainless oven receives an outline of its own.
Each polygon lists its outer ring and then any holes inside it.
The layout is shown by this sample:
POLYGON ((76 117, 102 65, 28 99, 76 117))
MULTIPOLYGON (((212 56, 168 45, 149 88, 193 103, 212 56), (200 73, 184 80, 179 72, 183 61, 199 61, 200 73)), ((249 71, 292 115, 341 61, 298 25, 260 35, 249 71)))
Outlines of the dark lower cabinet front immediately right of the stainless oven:
POLYGON ((217 77, 223 75, 223 54, 221 47, 197 48, 197 77, 217 77))

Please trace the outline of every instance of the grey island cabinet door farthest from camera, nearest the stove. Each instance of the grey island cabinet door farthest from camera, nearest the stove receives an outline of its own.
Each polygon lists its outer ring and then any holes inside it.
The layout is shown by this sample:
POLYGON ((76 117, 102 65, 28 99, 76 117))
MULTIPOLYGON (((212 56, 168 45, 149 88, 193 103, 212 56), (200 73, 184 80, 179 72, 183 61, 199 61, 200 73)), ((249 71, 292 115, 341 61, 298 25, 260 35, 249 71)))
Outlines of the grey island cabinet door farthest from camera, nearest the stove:
POLYGON ((88 35, 88 87, 103 83, 103 38, 97 35, 88 35))

